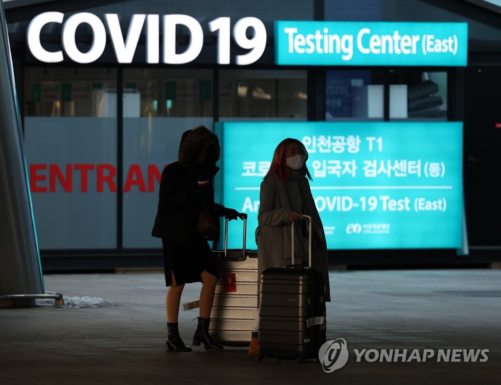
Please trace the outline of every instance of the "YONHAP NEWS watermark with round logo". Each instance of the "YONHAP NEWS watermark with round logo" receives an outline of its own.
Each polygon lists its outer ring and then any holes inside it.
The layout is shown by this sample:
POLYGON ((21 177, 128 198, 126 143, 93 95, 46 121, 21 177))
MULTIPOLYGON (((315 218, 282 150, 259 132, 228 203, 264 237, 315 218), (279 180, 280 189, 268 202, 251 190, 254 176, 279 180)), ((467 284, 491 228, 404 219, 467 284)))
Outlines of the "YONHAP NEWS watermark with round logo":
MULTIPOLYGON (((356 362, 486 362, 489 349, 353 349, 356 362)), ((342 368, 349 357, 344 338, 325 342, 318 358, 325 372, 342 368)))

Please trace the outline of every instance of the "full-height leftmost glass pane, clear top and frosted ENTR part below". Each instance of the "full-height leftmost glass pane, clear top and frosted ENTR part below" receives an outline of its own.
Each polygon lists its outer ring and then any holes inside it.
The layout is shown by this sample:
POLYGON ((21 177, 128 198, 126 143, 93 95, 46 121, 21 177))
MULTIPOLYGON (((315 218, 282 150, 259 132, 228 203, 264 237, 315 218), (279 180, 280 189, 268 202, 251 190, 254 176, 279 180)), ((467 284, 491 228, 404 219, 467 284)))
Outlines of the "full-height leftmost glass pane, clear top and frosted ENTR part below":
POLYGON ((26 68, 25 149, 41 249, 117 247, 116 70, 26 68), (114 113, 113 113, 114 112, 114 113))

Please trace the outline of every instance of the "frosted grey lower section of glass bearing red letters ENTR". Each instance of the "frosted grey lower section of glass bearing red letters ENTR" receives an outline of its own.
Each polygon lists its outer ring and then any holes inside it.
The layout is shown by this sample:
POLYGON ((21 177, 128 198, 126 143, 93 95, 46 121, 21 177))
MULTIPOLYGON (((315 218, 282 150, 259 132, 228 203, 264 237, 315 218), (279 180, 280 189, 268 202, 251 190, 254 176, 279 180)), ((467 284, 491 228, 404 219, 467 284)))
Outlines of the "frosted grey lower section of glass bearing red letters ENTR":
MULTIPOLYGON (((40 249, 116 248, 117 194, 106 182, 98 191, 97 176, 98 166, 116 170, 116 127, 116 118, 25 118, 28 169, 41 167, 35 172, 38 180, 30 176, 40 249), (54 177, 51 164, 66 180, 67 166, 71 168, 70 191, 54 177)), ((116 176, 114 181, 116 185, 116 176)))

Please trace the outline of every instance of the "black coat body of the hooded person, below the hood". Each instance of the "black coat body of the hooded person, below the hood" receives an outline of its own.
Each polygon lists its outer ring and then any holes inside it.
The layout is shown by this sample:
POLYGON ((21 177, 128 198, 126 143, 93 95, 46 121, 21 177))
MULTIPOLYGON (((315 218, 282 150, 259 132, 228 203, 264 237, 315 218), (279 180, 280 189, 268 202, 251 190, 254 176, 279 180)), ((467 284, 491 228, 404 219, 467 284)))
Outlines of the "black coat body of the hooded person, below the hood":
POLYGON ((162 171, 158 210, 151 235, 180 243, 189 243, 194 237, 199 237, 195 231, 195 217, 203 207, 203 200, 214 214, 223 216, 224 206, 214 203, 212 187, 218 170, 219 167, 213 166, 210 171, 205 171, 204 174, 209 174, 209 185, 199 187, 200 172, 194 166, 177 161, 167 165, 162 171))

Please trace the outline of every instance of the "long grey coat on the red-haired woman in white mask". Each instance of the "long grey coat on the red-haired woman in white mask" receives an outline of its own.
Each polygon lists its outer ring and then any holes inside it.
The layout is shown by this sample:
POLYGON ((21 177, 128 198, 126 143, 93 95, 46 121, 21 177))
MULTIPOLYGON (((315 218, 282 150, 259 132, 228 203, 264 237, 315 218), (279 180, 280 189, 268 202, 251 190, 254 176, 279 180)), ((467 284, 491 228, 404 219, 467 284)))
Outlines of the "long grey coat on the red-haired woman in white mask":
MULTIPOLYGON (((311 197, 313 199, 313 197, 311 197)), ((275 176, 271 175, 261 182, 260 207, 258 213, 258 227, 256 228, 256 243, 258 244, 259 274, 269 267, 282 267, 292 263, 291 249, 291 222, 289 214, 292 205, 287 187, 275 176)), ((316 210, 316 208, 315 208, 316 210)), ((312 245, 312 265, 324 271, 326 284, 326 301, 330 301, 329 268, 327 256, 327 242, 322 221, 318 211, 315 213, 303 212, 312 216, 312 232, 318 235, 320 242, 312 245)), ((315 234, 312 234, 312 237, 315 234)), ((295 250, 301 249, 301 239, 294 236, 295 250)), ((308 263, 307 252, 304 262, 308 263)), ((294 263, 301 263, 296 257, 294 263)))

